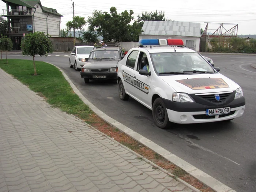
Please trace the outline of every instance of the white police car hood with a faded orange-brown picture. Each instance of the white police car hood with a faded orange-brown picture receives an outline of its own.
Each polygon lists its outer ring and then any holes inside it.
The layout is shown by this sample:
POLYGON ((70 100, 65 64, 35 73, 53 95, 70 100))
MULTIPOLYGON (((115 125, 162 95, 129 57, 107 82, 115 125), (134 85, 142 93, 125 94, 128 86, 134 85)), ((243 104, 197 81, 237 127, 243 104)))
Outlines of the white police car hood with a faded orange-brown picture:
POLYGON ((222 74, 159 76, 175 91, 188 94, 234 91, 240 86, 222 74))

